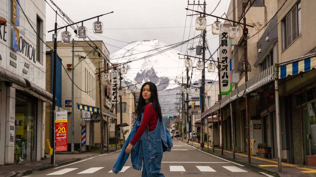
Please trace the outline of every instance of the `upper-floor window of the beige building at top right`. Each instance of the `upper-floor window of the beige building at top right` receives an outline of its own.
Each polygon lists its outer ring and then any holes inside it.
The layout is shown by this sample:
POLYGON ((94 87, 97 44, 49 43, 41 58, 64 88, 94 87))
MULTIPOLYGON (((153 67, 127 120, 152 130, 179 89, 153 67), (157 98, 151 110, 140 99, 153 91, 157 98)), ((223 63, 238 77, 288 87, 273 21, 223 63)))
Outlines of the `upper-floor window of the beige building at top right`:
POLYGON ((301 3, 296 4, 282 20, 283 50, 301 34, 301 3))

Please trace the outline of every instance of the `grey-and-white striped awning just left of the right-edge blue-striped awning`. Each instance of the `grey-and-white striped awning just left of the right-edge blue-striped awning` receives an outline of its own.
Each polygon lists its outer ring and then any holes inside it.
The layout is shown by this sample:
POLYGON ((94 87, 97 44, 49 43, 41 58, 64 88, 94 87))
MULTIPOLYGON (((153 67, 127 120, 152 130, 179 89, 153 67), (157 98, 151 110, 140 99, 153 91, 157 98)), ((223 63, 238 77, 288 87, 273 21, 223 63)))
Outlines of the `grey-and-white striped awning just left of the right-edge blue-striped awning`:
POLYGON ((274 81, 274 66, 260 72, 247 82, 245 94, 249 94, 267 83, 274 81))

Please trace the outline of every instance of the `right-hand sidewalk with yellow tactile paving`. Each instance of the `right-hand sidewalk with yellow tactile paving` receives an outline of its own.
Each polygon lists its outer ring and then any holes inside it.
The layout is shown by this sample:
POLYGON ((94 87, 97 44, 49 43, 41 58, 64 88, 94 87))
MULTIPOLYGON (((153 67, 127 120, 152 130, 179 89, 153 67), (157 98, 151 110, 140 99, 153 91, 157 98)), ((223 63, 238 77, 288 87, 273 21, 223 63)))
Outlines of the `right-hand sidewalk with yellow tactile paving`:
MULTIPOLYGON (((185 140, 186 142, 186 140, 185 140)), ((189 145, 191 145, 191 141, 189 141, 189 145)), ((193 146, 200 148, 200 144, 193 142, 193 146)), ((316 166, 307 166, 307 165, 296 165, 291 163, 282 162, 282 172, 278 172, 277 161, 252 156, 251 164, 248 163, 247 154, 235 153, 235 159, 233 159, 233 153, 231 151, 224 150, 223 156, 221 155, 221 149, 215 149, 215 153, 213 153, 213 149, 209 146, 209 150, 207 149, 207 144, 205 144, 204 149, 202 151, 208 152, 210 154, 216 155, 218 157, 222 157, 224 159, 240 163, 245 166, 252 166, 254 168, 258 168, 264 170, 268 174, 272 174, 280 177, 310 177, 316 176, 316 166)))

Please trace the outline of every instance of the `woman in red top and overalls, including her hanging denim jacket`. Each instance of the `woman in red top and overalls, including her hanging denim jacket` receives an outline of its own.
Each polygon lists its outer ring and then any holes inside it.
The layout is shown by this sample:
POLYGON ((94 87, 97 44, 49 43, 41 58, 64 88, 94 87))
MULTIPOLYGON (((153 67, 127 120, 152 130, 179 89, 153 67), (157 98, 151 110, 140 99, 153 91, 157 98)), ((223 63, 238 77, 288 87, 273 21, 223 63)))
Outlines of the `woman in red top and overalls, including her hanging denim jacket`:
POLYGON ((118 174, 131 154, 133 169, 142 170, 142 177, 164 177, 160 173, 162 154, 171 151, 172 139, 162 122, 157 87, 146 82, 141 88, 136 109, 138 119, 116 159, 112 171, 118 174))

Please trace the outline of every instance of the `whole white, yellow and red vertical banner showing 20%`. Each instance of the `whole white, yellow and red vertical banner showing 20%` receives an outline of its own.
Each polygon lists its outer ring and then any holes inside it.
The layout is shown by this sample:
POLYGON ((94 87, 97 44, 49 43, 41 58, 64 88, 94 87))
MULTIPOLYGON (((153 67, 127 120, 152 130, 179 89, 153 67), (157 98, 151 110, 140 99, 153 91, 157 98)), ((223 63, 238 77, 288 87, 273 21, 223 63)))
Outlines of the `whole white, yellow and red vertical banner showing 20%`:
POLYGON ((67 111, 55 112, 55 151, 67 151, 67 111))

